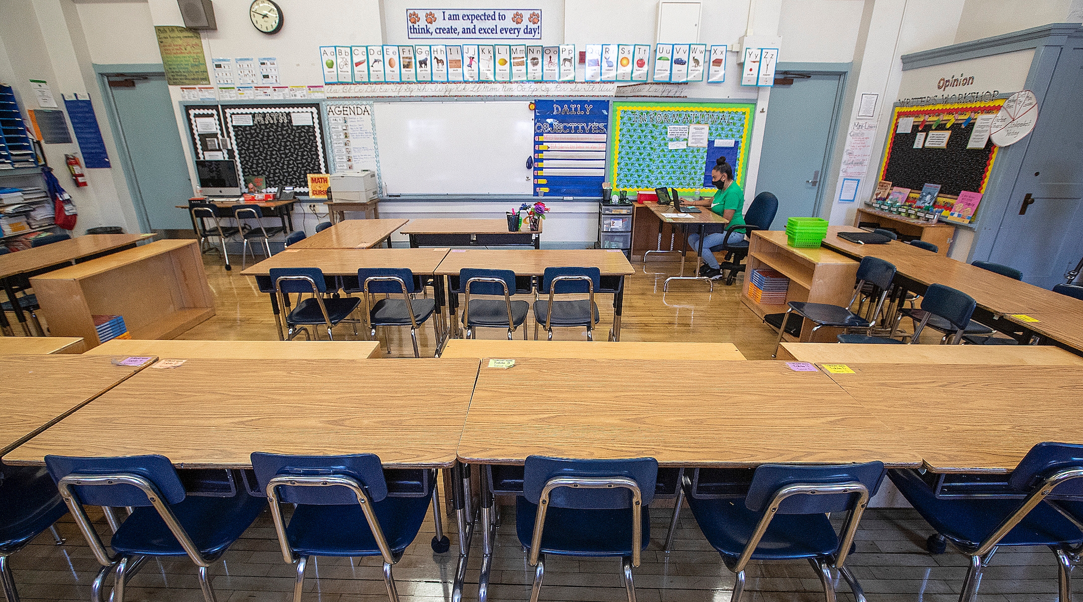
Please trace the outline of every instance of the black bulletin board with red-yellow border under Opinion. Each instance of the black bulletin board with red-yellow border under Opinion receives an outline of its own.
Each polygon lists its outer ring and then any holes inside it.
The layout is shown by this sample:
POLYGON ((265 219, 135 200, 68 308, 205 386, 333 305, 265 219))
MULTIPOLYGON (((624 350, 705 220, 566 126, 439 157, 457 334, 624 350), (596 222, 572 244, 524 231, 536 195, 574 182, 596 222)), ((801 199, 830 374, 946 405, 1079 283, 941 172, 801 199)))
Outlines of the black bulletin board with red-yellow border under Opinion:
POLYGON ((940 184, 941 195, 957 196, 961 191, 984 194, 989 172, 996 158, 996 146, 987 142, 983 148, 967 148, 978 114, 993 113, 1004 101, 988 103, 943 104, 896 107, 887 148, 880 165, 879 179, 921 191, 925 184, 940 184), (964 126, 966 117, 971 116, 964 126), (899 119, 913 117, 910 132, 899 132, 899 119), (954 118, 951 127, 945 127, 954 118), (919 128, 925 120, 925 127, 919 128), (939 122, 938 122, 939 120, 939 122), (914 148, 919 132, 951 131, 947 148, 914 148))

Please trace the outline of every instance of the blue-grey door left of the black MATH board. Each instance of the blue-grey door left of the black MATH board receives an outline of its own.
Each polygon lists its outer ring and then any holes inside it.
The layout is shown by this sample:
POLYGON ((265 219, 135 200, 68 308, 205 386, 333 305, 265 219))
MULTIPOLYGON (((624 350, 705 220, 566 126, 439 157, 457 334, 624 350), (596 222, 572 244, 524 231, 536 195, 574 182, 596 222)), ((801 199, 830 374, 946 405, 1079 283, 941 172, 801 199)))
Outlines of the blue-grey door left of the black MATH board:
POLYGON ((192 220, 177 208, 192 196, 192 182, 165 74, 107 79, 119 122, 114 133, 141 221, 151 230, 191 230, 192 220))

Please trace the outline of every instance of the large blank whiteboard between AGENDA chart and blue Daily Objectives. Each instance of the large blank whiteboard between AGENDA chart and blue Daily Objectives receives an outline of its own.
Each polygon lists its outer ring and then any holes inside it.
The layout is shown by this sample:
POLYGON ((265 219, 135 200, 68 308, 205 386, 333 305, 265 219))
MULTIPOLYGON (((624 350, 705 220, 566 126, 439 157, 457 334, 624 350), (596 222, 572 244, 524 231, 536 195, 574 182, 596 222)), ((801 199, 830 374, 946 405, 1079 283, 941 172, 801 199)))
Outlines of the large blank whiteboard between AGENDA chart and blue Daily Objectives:
POLYGON ((375 113, 384 195, 533 194, 530 103, 376 103, 375 113))

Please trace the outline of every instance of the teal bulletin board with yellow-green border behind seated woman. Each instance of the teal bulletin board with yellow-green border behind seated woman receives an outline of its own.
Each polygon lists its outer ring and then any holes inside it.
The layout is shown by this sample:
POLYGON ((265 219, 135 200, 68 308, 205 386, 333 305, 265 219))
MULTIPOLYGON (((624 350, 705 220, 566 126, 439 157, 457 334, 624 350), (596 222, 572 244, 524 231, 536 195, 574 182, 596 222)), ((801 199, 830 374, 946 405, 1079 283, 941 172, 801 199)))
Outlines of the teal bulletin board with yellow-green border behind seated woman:
POLYGON ((613 103, 613 188, 712 194, 720 156, 744 186, 755 103, 613 103))

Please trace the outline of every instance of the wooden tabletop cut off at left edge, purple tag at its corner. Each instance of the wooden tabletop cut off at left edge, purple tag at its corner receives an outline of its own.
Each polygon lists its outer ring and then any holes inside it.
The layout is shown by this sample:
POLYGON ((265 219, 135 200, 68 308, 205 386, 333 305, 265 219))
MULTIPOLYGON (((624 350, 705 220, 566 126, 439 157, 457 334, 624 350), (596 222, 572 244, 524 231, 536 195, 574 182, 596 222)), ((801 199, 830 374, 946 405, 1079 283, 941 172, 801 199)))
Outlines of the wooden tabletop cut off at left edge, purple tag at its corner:
MULTIPOLYGON (((138 372, 89 355, 5 355, 0 362, 0 456, 138 372)), ((93 439, 94 429, 77 439, 93 439)))

